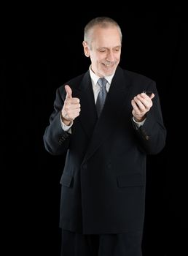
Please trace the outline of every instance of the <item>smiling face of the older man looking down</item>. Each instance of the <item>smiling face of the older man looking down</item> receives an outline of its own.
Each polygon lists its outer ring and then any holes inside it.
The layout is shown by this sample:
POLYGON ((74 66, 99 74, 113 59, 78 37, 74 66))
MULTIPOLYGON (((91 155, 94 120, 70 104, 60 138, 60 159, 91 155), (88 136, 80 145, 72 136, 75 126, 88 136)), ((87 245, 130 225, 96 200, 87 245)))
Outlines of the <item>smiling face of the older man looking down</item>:
POLYGON ((114 74, 121 55, 120 31, 116 26, 95 26, 91 39, 91 45, 83 42, 85 55, 90 56, 91 69, 99 77, 114 74))

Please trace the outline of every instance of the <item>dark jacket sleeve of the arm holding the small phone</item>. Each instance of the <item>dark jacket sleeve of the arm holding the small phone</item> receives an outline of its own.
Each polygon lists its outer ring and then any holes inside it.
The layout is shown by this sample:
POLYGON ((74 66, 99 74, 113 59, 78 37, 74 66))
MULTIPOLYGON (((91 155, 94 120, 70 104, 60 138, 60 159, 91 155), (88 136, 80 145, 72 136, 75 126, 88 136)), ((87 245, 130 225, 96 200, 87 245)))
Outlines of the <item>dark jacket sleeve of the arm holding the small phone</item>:
POLYGON ((153 105, 146 114, 144 125, 137 129, 135 127, 135 131, 142 151, 146 154, 158 154, 165 146, 166 129, 162 119, 160 98, 154 81, 149 84, 147 90, 154 92, 153 105))

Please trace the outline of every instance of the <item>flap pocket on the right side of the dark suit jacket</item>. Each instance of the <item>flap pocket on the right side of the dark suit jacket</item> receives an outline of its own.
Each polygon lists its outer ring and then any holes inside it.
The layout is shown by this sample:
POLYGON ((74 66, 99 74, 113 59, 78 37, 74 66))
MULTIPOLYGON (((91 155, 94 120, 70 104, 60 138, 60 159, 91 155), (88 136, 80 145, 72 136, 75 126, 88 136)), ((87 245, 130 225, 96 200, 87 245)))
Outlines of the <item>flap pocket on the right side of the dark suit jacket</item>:
POLYGON ((140 173, 117 176, 118 187, 139 187, 145 185, 145 178, 140 173))

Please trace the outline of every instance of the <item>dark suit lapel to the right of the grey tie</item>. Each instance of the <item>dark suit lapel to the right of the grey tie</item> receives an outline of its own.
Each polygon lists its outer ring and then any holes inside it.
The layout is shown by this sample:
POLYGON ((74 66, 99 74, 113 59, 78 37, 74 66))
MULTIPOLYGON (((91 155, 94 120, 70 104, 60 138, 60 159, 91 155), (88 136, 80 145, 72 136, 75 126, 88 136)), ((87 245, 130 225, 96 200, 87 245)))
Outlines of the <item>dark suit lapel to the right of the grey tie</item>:
POLYGON ((98 118, 98 121, 95 124, 95 129, 90 140, 90 146, 88 147, 85 155, 85 160, 93 155, 98 147, 101 146, 103 141, 106 140, 106 138, 114 130, 114 125, 121 116, 122 108, 125 104, 127 104, 126 97, 128 95, 128 89, 129 86, 125 81, 123 70, 118 67, 114 78, 111 81, 111 86, 106 97, 106 102, 101 116, 98 118))

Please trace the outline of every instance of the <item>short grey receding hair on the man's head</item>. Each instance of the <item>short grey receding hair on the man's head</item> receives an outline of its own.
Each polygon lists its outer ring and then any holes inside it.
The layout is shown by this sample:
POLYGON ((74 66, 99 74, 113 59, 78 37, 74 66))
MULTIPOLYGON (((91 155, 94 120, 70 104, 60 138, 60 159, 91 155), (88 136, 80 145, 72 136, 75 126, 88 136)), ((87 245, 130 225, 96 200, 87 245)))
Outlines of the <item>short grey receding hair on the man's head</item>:
POLYGON ((92 42, 92 32, 93 32, 93 28, 94 26, 100 26, 101 28, 109 28, 109 26, 116 26, 117 29, 120 31, 120 39, 122 42, 122 31, 120 29, 119 24, 109 18, 109 17, 98 17, 98 18, 94 18, 93 20, 90 20, 89 23, 87 23, 87 25, 85 26, 85 34, 84 34, 84 40, 85 42, 88 43, 88 45, 90 45, 91 47, 91 42, 92 42))

